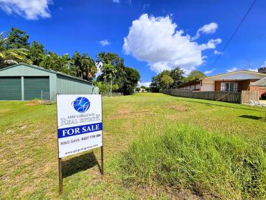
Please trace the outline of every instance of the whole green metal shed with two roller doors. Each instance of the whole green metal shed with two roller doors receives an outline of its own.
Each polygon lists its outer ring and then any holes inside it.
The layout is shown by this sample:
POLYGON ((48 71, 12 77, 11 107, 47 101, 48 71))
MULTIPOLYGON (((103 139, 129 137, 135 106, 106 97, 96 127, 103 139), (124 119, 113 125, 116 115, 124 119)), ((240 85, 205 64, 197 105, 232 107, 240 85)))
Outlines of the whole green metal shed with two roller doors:
POLYGON ((0 69, 0 100, 54 100, 59 94, 99 94, 91 82, 24 63, 0 69))

